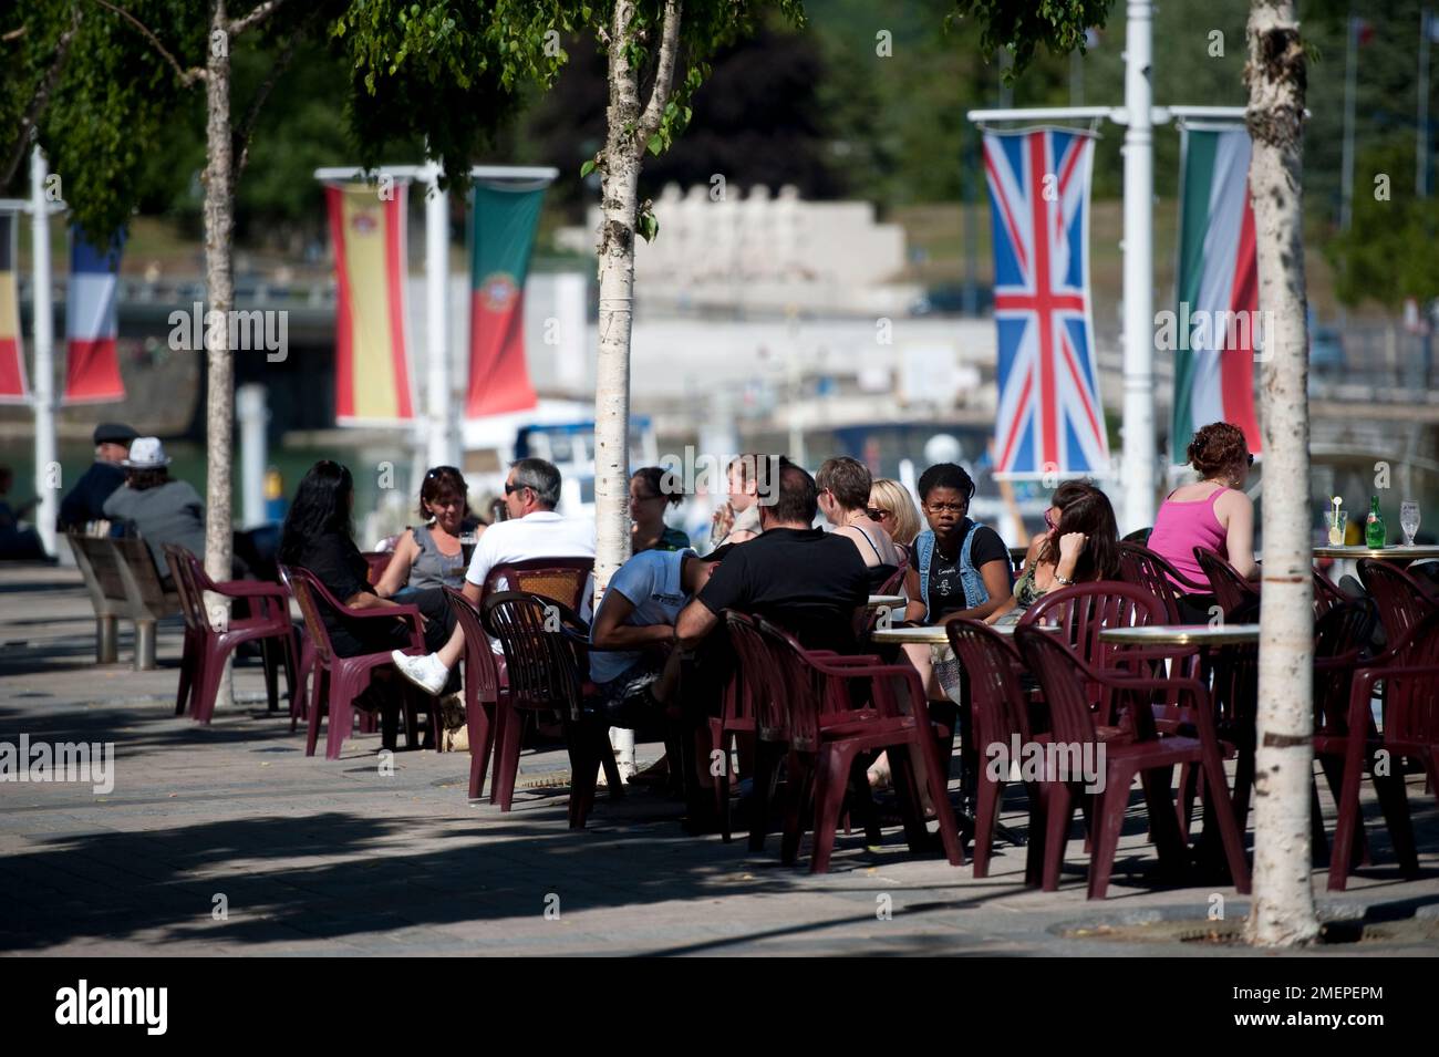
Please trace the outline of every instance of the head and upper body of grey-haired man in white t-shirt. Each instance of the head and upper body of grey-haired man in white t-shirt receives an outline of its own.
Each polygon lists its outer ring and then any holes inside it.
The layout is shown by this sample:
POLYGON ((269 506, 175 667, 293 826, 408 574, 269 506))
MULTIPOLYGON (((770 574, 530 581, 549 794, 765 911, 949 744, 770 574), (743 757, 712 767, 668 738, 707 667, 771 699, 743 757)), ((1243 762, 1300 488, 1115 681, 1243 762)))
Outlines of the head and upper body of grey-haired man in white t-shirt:
MULTIPOLYGON (((509 521, 486 528, 465 574, 465 597, 479 604, 485 577, 496 565, 531 558, 593 558, 594 522, 561 518, 554 512, 560 502, 560 470, 544 459, 521 459, 505 479, 505 506, 509 521)), ((587 592, 589 595, 589 592, 587 592)))

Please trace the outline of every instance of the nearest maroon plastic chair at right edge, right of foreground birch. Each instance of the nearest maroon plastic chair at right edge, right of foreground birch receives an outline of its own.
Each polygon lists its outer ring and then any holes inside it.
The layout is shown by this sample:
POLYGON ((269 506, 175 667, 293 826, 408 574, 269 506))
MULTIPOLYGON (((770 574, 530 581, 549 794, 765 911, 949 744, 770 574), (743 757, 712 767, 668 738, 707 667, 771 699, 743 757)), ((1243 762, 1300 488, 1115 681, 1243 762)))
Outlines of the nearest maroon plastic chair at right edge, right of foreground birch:
POLYGON ((1343 731, 1333 715, 1325 720, 1328 732, 1315 738, 1315 752, 1343 752, 1344 761, 1330 853, 1330 892, 1348 886, 1350 853, 1361 823, 1360 782, 1366 774, 1374 779, 1400 871, 1404 877, 1416 877, 1419 856, 1400 761, 1422 764, 1429 788, 1439 800, 1439 611, 1425 616, 1383 654, 1356 667, 1343 731), (1374 729, 1370 710, 1379 683, 1384 686, 1381 731, 1374 729), (1386 754, 1384 768, 1377 767, 1381 752, 1386 754))

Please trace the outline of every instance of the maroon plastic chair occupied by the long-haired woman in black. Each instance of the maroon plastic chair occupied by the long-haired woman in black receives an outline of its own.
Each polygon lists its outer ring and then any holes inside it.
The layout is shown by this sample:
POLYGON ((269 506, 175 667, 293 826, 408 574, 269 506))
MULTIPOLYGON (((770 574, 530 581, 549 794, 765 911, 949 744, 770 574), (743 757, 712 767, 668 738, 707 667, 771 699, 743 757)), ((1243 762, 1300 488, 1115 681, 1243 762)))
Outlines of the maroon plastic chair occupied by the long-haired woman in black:
MULTIPOLYGON (((416 653, 425 653, 425 631, 420 624, 420 611, 414 605, 387 605, 374 610, 355 610, 337 600, 330 590, 319 582, 309 569, 299 567, 279 567, 281 582, 283 582, 305 617, 305 630, 309 634, 315 654, 315 685, 309 696, 308 735, 305 738, 305 755, 315 755, 315 743, 319 741, 319 723, 328 715, 330 726, 325 732, 325 759, 340 759, 340 749, 354 726, 355 697, 370 686, 376 669, 394 669, 390 650, 380 653, 361 653, 355 657, 340 657, 330 643, 330 631, 321 617, 319 607, 324 605, 347 620, 404 620, 410 624, 410 646, 416 653)), ((417 742, 416 712, 423 708, 429 712, 432 736, 439 732, 439 700, 413 687, 404 679, 397 677, 400 699, 386 703, 381 715, 381 743, 393 749, 396 732, 399 729, 399 710, 406 709, 406 738, 412 746, 417 742)))

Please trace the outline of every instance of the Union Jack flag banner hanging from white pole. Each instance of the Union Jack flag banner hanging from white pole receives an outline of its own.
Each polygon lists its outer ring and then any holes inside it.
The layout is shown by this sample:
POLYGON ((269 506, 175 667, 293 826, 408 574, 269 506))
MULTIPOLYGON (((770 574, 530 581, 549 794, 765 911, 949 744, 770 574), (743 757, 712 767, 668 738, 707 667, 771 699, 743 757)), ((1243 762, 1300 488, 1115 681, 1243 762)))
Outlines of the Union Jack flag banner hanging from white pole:
POLYGON ((984 134, 994 230, 994 473, 1104 473, 1109 443, 1089 316, 1094 137, 984 134))

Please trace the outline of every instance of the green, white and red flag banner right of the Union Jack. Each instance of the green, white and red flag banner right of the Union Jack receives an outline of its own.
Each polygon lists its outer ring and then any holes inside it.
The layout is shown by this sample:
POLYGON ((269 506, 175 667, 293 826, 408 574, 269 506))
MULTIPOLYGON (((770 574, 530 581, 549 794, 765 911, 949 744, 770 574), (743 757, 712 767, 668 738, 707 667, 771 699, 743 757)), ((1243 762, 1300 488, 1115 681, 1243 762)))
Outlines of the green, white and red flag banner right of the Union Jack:
POLYGON ((1249 204, 1249 132, 1184 129, 1180 180, 1179 282, 1173 324, 1158 328, 1160 347, 1174 349, 1174 421, 1170 459, 1200 426, 1238 426, 1259 452, 1255 417, 1255 345, 1259 266, 1249 204))

